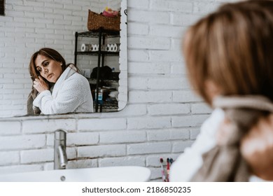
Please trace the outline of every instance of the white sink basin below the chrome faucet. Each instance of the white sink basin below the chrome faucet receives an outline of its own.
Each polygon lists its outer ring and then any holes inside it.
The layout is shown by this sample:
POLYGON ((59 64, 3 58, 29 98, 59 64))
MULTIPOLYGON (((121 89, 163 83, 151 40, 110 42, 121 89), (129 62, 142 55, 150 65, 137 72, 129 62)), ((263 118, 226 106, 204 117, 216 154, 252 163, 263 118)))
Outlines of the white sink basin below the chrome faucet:
POLYGON ((0 175, 1 182, 145 182, 150 169, 139 166, 57 169, 0 175))

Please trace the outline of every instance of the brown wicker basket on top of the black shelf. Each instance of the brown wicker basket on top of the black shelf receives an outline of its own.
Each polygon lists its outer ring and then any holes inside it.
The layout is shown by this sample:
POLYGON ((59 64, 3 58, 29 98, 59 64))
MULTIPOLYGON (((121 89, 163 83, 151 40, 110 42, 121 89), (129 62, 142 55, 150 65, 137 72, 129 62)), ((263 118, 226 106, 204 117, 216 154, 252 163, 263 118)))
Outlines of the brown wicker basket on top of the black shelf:
POLYGON ((87 29, 89 31, 97 30, 103 27, 107 30, 120 31, 120 15, 118 17, 105 17, 91 10, 88 11, 87 29))

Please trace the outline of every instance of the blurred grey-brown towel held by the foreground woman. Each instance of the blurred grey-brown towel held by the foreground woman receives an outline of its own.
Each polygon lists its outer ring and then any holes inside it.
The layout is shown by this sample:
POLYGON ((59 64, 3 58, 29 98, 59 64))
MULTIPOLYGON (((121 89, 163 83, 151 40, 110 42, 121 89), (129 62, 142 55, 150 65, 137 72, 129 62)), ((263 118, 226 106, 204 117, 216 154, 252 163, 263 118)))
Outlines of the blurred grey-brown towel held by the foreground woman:
POLYGON ((273 112, 273 104, 266 97, 217 97, 213 106, 225 111, 231 129, 225 144, 216 145, 202 155, 203 165, 191 181, 199 182, 245 182, 250 177, 250 168, 241 156, 241 138, 262 116, 273 112))

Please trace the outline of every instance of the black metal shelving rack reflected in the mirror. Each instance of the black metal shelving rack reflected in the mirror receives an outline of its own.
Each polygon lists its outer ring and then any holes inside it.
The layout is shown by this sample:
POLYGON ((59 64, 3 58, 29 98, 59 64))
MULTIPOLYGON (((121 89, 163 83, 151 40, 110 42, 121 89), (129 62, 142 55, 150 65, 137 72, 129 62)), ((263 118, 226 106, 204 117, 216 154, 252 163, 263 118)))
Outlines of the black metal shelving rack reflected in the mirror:
MULTIPOLYGON (((104 58, 106 56, 119 56, 120 52, 108 52, 102 50, 102 45, 105 44, 106 38, 117 38, 120 37, 120 31, 112 31, 112 30, 106 30, 102 27, 98 30, 92 30, 92 31, 84 31, 84 32, 76 32, 75 33, 75 56, 74 56, 74 64, 77 64, 77 56, 78 55, 93 55, 97 56, 97 81, 96 81, 96 90, 95 90, 95 112, 98 112, 99 109, 102 111, 102 109, 110 109, 111 110, 118 110, 118 103, 115 102, 113 104, 99 104, 97 100, 99 99, 99 83, 102 81, 102 78, 99 78, 100 76, 100 68, 104 66, 104 58), (78 51, 78 38, 79 37, 87 37, 87 38, 98 38, 99 43, 99 50, 98 51, 86 51, 81 52, 78 51)), ((105 80, 104 80, 105 81, 105 80)))

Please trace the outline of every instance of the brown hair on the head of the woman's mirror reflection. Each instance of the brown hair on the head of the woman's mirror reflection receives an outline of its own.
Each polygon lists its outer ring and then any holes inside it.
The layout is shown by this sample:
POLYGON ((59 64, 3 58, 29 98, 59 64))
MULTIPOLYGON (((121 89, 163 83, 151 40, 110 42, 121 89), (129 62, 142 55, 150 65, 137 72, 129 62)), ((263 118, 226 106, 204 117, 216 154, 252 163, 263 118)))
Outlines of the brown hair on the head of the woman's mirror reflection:
POLYGON ((38 76, 40 75, 40 73, 38 73, 38 71, 36 70, 36 66, 35 66, 35 60, 38 55, 43 55, 45 57, 48 57, 49 59, 55 60, 56 62, 61 62, 62 71, 66 69, 66 62, 64 60, 64 57, 62 57, 62 55, 60 55, 59 52, 57 52, 56 50, 52 48, 41 48, 40 50, 38 50, 31 56, 31 59, 29 62, 29 73, 31 78, 33 79, 38 78, 38 76))

